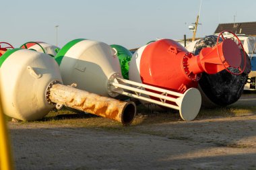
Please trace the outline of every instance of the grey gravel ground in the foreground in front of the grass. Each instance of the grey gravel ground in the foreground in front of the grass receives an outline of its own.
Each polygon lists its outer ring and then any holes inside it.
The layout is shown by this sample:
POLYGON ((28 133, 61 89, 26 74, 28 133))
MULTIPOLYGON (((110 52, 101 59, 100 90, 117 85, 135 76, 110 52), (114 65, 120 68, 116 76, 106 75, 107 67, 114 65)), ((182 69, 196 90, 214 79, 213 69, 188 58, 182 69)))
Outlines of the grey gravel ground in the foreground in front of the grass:
POLYGON ((256 114, 141 124, 123 131, 8 126, 16 169, 256 169, 256 114))

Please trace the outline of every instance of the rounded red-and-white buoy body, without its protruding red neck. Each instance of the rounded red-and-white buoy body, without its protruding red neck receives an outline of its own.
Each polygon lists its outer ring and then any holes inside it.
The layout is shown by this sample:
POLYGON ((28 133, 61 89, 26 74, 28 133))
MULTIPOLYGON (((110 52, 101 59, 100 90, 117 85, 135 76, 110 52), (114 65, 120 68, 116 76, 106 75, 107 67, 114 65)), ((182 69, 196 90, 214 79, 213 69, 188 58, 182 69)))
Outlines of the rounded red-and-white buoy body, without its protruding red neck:
POLYGON ((197 81, 187 77, 182 68, 183 56, 187 52, 181 44, 173 40, 163 39, 152 42, 133 54, 129 77, 132 81, 141 81, 148 85, 184 93, 191 87, 197 87, 197 81))

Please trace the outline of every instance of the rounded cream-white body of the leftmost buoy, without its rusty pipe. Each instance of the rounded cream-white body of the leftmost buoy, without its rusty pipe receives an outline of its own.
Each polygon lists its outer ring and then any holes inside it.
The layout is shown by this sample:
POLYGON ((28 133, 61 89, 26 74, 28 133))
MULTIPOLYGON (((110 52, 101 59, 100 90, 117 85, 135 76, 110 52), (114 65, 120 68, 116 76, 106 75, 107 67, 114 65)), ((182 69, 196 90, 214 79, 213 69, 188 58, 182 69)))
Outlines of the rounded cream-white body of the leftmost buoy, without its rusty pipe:
POLYGON ((16 48, 0 58, 1 100, 7 116, 19 120, 44 117, 54 105, 46 101, 46 88, 61 82, 59 67, 48 54, 16 48))

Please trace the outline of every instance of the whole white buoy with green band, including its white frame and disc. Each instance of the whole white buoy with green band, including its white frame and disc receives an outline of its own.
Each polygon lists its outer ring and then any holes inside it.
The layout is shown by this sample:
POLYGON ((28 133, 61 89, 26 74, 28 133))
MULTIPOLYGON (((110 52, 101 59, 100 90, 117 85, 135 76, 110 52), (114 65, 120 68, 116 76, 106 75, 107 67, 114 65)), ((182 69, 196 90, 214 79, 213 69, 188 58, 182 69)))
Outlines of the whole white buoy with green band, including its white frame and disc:
POLYGON ((140 78, 136 79, 137 82, 123 79, 115 54, 116 51, 103 42, 77 39, 63 46, 55 59, 65 84, 77 83, 79 89, 104 96, 117 97, 121 94, 156 103, 179 110, 184 120, 193 120, 197 116, 201 106, 201 95, 197 89, 192 88, 183 94, 143 84, 140 78), (189 105, 188 100, 191 100, 189 105), (190 110, 191 107, 195 109, 190 110))

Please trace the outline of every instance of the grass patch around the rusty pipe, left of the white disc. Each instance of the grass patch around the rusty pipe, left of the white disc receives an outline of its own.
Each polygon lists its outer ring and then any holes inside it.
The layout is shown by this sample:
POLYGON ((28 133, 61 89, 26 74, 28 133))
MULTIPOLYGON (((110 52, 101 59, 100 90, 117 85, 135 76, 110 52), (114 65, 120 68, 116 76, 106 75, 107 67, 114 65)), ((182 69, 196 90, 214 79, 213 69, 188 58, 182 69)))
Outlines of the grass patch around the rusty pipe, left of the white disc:
MULTIPOLYGON (((134 126, 140 124, 156 124, 163 122, 171 122, 171 121, 179 121, 181 118, 179 117, 179 113, 170 113, 170 112, 152 112, 148 114, 145 110, 142 110, 135 116, 133 123, 131 126, 126 126, 123 128, 120 122, 115 120, 110 120, 106 118, 102 118, 99 116, 95 116, 92 114, 77 114, 75 112, 71 112, 69 110, 59 110, 58 112, 51 111, 48 115, 46 115, 41 120, 36 120, 34 122, 40 124, 68 124, 76 127, 84 127, 84 128, 106 128, 113 130, 129 130, 134 126)), ((30 122, 28 122, 30 123, 30 122)))

